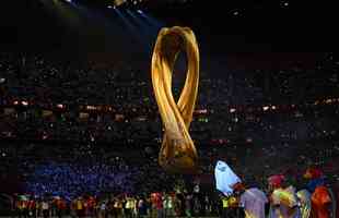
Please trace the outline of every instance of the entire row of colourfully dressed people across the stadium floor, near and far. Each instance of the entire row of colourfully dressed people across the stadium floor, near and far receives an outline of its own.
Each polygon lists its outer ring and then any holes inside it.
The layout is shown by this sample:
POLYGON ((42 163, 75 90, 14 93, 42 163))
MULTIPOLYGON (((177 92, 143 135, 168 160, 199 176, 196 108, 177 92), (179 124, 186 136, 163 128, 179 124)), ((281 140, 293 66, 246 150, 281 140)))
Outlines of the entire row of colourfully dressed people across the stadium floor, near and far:
MULTIPOLYGON (((229 177, 231 177, 229 174, 229 177)), ((226 179, 226 178, 224 178, 226 179)), ((226 179, 227 180, 227 179, 226 179)), ((232 192, 204 192, 199 182, 168 192, 81 195, 71 199, 56 195, 16 195, 13 216, 19 217, 224 217, 224 218, 336 218, 339 186, 311 167, 295 178, 280 173, 267 178, 262 190, 253 180, 229 186, 232 192)))

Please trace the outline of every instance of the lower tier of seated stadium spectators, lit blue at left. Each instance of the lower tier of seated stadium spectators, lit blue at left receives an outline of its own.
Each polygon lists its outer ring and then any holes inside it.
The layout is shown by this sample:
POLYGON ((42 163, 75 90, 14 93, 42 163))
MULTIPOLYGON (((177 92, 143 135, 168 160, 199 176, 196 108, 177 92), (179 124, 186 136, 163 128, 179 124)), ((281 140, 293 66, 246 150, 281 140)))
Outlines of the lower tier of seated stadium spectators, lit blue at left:
MULTIPOLYGON (((51 193, 67 198, 82 193, 140 194, 171 191, 174 181, 185 179, 160 168, 157 144, 144 149, 117 149, 116 146, 3 142, 0 149, 3 185, 0 192, 20 190, 39 196, 51 193)), ((330 184, 336 184, 339 180, 336 164, 339 157, 338 142, 268 144, 262 147, 198 147, 198 154, 200 170, 197 177, 207 185, 207 190, 213 190, 213 170, 220 159, 232 162, 233 168, 246 180, 255 178, 261 187, 266 186, 265 178, 269 174, 277 171, 300 174, 309 165, 322 167, 330 184), (257 156, 260 158, 256 158, 257 156)), ((186 180, 191 181, 192 178, 186 180)))

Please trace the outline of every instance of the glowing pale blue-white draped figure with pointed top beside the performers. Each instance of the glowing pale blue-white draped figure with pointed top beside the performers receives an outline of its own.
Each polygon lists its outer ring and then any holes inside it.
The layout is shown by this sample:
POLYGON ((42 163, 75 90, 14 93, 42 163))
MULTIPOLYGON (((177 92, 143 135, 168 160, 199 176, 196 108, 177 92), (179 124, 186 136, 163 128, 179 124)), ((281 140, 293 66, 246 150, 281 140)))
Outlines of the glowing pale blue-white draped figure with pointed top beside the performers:
POLYGON ((233 185, 242 182, 241 179, 232 171, 229 165, 219 160, 214 169, 217 190, 224 195, 230 196, 233 193, 233 185))

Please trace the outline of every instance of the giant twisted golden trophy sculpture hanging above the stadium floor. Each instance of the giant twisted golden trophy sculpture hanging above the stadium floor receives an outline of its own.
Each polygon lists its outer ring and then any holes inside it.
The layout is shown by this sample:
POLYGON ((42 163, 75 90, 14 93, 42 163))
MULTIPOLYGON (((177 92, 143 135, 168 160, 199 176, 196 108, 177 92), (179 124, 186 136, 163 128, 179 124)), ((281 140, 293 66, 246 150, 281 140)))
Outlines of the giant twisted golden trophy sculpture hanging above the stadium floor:
POLYGON ((199 85, 199 49, 188 27, 162 28, 152 57, 152 84, 164 125, 159 164, 167 171, 197 172, 197 150, 189 135, 199 85), (180 50, 187 56, 187 77, 178 102, 172 94, 172 72, 180 50))

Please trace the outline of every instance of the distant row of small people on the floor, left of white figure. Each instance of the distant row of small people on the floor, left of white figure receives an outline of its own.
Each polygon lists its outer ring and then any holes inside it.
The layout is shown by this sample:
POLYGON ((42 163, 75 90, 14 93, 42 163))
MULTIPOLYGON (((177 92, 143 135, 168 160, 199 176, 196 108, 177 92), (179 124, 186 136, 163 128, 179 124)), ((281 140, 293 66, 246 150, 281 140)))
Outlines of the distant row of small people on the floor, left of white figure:
POLYGON ((56 197, 17 197, 14 215, 20 217, 185 217, 217 216, 220 204, 199 193, 120 194, 106 197, 80 196, 72 201, 56 197), (213 206, 217 206, 213 208, 213 206))

